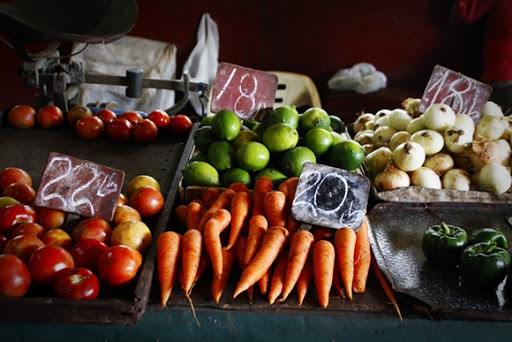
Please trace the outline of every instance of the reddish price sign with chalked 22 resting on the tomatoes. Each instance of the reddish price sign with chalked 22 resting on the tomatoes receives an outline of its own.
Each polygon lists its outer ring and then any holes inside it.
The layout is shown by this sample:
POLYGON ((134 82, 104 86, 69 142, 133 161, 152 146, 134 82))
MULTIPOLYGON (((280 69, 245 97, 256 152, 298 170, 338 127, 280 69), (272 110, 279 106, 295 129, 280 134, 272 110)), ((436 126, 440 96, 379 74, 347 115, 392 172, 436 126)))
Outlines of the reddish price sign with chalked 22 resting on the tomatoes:
POLYGON ((51 152, 34 204, 111 221, 123 182, 122 171, 51 152))

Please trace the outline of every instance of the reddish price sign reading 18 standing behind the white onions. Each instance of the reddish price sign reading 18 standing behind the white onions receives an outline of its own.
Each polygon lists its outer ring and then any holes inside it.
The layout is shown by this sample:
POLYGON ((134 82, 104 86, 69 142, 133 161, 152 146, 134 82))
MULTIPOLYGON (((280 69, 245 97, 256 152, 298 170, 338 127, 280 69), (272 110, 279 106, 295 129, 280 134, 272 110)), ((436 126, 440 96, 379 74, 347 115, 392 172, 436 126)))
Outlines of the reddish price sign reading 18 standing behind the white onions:
POLYGON ((471 77, 436 65, 420 103, 420 111, 434 103, 449 105, 456 114, 467 114, 476 123, 482 114, 492 88, 471 77))

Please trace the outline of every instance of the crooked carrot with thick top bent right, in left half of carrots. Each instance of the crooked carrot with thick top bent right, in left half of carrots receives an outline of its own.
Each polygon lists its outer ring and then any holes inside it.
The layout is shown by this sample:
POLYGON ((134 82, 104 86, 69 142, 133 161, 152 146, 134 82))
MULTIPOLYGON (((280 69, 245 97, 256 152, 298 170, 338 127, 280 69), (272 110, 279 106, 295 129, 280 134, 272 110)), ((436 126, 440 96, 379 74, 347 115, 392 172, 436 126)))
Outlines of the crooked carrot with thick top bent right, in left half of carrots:
POLYGON ((204 245, 212 262, 213 275, 222 275, 222 243, 220 233, 229 226, 231 214, 226 209, 216 211, 204 226, 204 245))

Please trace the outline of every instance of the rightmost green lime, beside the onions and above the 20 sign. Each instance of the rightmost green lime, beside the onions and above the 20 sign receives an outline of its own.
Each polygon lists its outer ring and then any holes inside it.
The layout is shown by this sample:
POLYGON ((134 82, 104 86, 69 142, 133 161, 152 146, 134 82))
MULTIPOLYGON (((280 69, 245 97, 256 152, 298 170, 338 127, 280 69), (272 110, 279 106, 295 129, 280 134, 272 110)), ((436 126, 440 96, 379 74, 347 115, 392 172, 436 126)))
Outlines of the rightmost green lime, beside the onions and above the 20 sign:
POLYGON ((354 140, 343 140, 327 152, 327 164, 345 170, 355 170, 364 161, 364 149, 354 140))

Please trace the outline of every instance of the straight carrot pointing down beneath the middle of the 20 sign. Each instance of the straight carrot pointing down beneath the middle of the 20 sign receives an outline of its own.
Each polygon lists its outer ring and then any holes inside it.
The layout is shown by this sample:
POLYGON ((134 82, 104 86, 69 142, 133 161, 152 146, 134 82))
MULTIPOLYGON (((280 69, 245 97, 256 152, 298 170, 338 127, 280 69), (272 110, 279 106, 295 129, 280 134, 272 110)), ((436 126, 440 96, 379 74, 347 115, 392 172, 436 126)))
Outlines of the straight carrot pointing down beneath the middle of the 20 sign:
POLYGON ((318 294, 318 303, 322 308, 329 305, 329 293, 334 273, 334 246, 327 240, 320 240, 313 245, 313 276, 318 294))

